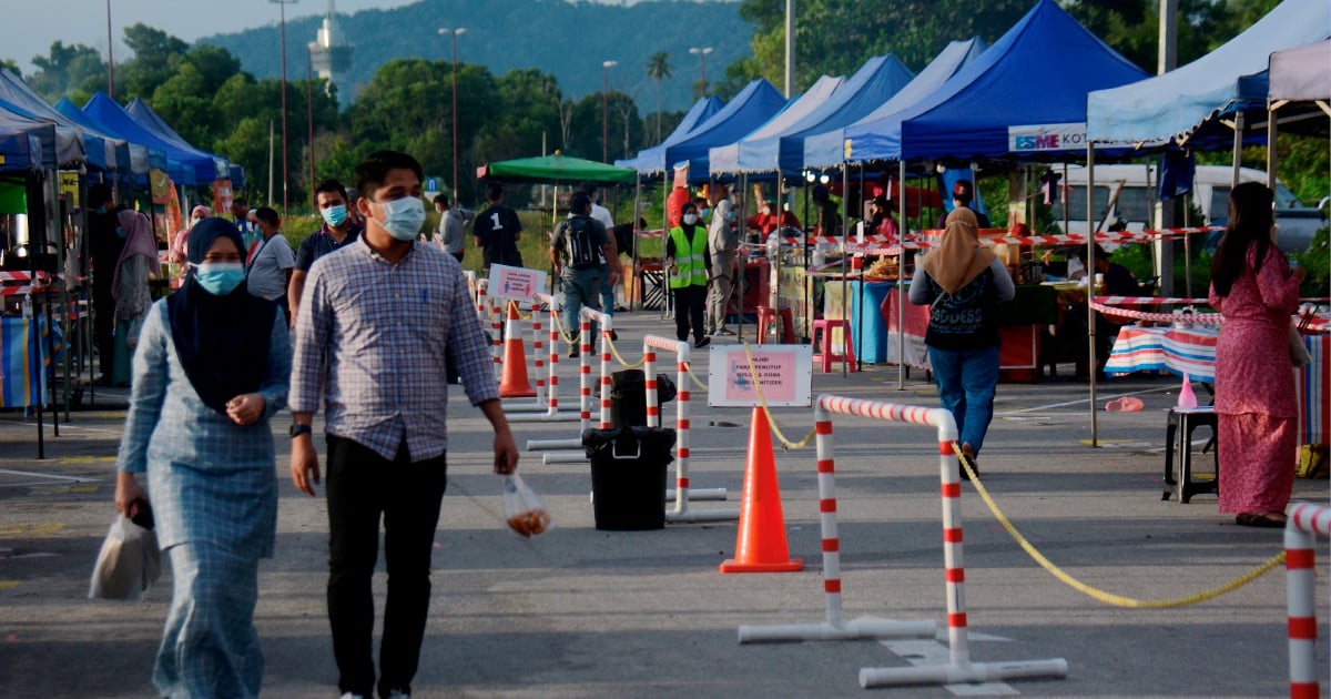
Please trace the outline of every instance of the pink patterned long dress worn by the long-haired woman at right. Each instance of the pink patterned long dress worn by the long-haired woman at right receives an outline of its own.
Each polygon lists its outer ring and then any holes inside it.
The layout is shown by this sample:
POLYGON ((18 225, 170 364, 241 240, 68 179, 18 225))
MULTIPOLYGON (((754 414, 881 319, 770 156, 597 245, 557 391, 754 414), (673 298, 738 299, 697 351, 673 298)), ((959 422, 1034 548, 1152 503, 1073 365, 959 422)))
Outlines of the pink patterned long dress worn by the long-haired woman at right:
POLYGON ((1211 306, 1225 316, 1215 344, 1215 413, 1219 425, 1222 513, 1278 513, 1290 502, 1296 457, 1298 406, 1290 363, 1290 314, 1299 282, 1272 245, 1254 273, 1256 245, 1227 297, 1211 306))

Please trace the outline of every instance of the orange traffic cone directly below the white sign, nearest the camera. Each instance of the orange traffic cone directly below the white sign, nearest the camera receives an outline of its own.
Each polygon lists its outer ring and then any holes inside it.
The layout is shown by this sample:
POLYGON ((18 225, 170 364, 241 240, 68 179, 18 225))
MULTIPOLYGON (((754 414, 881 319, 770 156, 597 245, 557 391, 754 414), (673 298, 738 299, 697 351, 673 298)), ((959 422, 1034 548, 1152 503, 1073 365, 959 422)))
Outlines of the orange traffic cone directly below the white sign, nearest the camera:
POLYGON ((791 559, 785 546, 781 489, 776 482, 772 433, 761 407, 753 409, 749 458, 744 467, 744 505, 735 537, 735 558, 721 563, 721 573, 795 573, 804 561, 791 559))

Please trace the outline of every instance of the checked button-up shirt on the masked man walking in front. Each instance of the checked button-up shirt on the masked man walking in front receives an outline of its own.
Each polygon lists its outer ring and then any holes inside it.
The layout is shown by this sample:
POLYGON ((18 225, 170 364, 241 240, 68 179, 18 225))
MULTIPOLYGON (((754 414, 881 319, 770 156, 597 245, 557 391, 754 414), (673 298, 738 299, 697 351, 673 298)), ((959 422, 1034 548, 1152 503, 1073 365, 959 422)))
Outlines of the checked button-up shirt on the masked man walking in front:
POLYGON ((394 265, 362 236, 310 268, 295 324, 291 410, 318 411, 322 389, 329 434, 386 459, 403 438, 411 461, 438 457, 447 447, 446 348, 471 405, 499 398, 462 265, 422 242, 394 265))

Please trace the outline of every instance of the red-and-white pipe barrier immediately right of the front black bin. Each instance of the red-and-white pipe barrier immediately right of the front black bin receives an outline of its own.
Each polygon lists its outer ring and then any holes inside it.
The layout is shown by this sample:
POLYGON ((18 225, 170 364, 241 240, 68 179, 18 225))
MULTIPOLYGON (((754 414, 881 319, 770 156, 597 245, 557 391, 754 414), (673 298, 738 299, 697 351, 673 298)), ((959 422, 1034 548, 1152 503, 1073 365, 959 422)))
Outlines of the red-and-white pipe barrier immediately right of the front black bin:
POLYGON ((725 489, 708 489, 705 493, 689 490, 688 462, 689 462, 689 418, 688 407, 692 399, 689 390, 689 351, 687 341, 667 340, 658 336, 643 338, 643 374, 647 386, 647 426, 662 426, 660 393, 656 386, 656 350, 663 349, 675 353, 675 382, 677 395, 675 397, 677 411, 675 417, 675 491, 666 491, 666 499, 673 499, 675 507, 667 510, 667 522, 728 522, 740 518, 739 509, 733 510, 693 510, 688 509, 688 499, 725 499, 725 489))

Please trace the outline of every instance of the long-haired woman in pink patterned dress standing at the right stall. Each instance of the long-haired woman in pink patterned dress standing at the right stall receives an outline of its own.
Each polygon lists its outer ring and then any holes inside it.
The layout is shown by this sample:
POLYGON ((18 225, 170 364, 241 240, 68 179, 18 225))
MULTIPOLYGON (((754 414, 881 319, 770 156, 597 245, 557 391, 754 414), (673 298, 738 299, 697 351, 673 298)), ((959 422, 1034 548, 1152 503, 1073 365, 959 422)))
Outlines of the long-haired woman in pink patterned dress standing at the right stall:
POLYGON ((1215 342, 1221 511, 1250 527, 1284 527, 1294 487, 1298 405, 1290 371, 1290 314, 1306 272, 1271 238, 1271 190, 1230 192, 1230 224, 1211 258, 1211 308, 1225 316, 1215 342))

